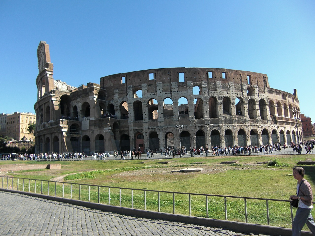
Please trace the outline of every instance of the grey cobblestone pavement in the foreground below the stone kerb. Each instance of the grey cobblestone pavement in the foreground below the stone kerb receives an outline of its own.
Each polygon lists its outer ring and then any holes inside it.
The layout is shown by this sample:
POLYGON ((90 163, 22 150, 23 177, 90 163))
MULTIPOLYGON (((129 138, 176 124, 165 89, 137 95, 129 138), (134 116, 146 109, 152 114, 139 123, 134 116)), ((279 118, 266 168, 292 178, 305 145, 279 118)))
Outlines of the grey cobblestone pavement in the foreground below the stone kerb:
POLYGON ((222 228, 124 216, 1 191, 0 199, 0 235, 248 235, 222 228))

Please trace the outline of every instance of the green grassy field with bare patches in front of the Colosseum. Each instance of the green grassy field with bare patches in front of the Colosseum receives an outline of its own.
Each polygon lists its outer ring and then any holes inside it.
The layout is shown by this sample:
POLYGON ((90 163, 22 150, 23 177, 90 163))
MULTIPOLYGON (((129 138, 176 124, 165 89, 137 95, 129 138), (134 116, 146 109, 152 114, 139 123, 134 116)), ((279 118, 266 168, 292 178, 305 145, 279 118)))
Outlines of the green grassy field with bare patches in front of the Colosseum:
MULTIPOLYGON (((279 155, 277 160, 283 166, 268 167, 267 164, 276 156, 209 156, 194 158, 175 158, 168 160, 106 160, 106 161, 56 161, 61 164, 61 170, 27 170, 1 173, 2 176, 24 177, 41 180, 57 180, 71 183, 102 185, 110 187, 137 188, 158 191, 183 193, 216 194, 239 197, 254 197, 288 200, 295 194, 296 180, 293 178, 292 167, 299 161, 314 160, 312 155, 279 155), (161 162, 167 161, 167 164, 161 162), (224 161, 236 161, 236 165, 221 165, 224 161), (285 167, 284 167, 285 166, 285 167), (201 167, 203 171, 196 173, 171 172, 185 167, 201 167)), ((12 165, 11 161, 1 161, 0 168, 12 165)), ((16 161, 15 165, 36 165, 43 162, 16 161)), ((303 166, 303 165, 302 165, 303 166)), ((305 178, 315 186, 314 165, 303 166, 305 178)), ((37 181, 37 185, 40 181, 37 181)), ((57 194, 62 196, 58 185, 57 194)), ((28 186, 25 188, 28 189, 28 186)), ((34 185, 30 186, 33 191, 34 185)), ((36 186, 40 189, 40 186, 36 186)), ((44 189, 48 186, 44 184, 44 189)), ((98 187, 91 187, 90 200, 98 201, 98 187)), ((55 186, 49 187, 54 193, 55 186)), ((131 207, 131 193, 123 191, 122 205, 131 207)), ((65 196, 70 196, 70 187, 65 188, 65 196)), ((134 192, 134 207, 144 208, 143 191, 134 192)), ((73 187, 72 197, 78 198, 79 189, 73 187)), ((111 188, 111 204, 119 205, 119 190, 111 188)), ((88 200, 87 187, 81 188, 81 199, 88 200)), ((108 203, 108 190, 100 191, 100 202, 108 203)), ((147 192, 147 210, 157 211, 157 193, 147 192)), ((206 216, 206 202, 203 197, 192 196, 192 215, 206 216)), ((172 194, 160 195, 160 207, 163 212, 172 212, 172 194), (171 199, 171 200, 170 200, 171 199)), ((228 220, 245 221, 244 201, 227 198, 228 220)), ((189 215, 187 195, 177 194, 175 200, 176 212, 189 215)), ((209 217, 224 219, 224 198, 209 197, 209 217), (222 211, 223 209, 223 211, 222 211)), ((248 222, 266 223, 266 202, 247 200, 248 222)), ((288 203, 269 203, 270 224, 284 227, 291 226, 288 203)), ((306 228, 307 229, 307 228, 306 228)))

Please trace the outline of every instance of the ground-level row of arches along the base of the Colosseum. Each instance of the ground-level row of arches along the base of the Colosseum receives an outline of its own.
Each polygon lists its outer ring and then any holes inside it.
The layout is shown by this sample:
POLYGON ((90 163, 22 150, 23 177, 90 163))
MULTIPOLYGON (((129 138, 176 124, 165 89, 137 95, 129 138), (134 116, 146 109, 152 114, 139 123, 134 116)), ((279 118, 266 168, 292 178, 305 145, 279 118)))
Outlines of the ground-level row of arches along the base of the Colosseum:
MULTIPOLYGON (((71 134, 78 132, 78 126, 73 124, 69 131, 71 134)), ((115 134, 115 144, 118 150, 132 150, 133 147, 136 149, 140 148, 142 152, 145 152, 147 149, 157 150, 165 148, 179 148, 179 137, 178 133, 168 131, 164 134, 164 137, 159 137, 158 133, 152 131, 148 134, 147 137, 142 132, 137 132, 133 137, 134 143, 130 143, 129 135, 122 134, 117 135, 117 127, 114 127, 113 132, 115 134)), ((259 133, 256 129, 250 130, 249 133, 246 133, 244 129, 239 129, 237 133, 233 133, 231 129, 226 129, 221 133, 219 130, 212 130, 210 136, 208 136, 204 131, 198 130, 194 135, 191 135, 190 132, 183 130, 180 132, 180 143, 181 147, 186 147, 189 150, 191 147, 210 147, 212 146, 223 146, 231 147, 234 145, 237 146, 260 146, 269 145, 270 143, 281 142, 281 144, 286 143, 290 145, 291 142, 300 142, 301 141, 301 132, 295 132, 292 130, 290 132, 287 130, 280 130, 278 132, 276 129, 272 130, 270 134, 266 129, 263 129, 259 133), (209 140, 210 139, 210 143, 209 140)), ((94 143, 91 142, 89 135, 83 135, 82 138, 79 138, 77 135, 70 138, 72 150, 75 152, 84 152, 90 154, 92 152, 104 152, 105 150, 105 138, 103 134, 97 134, 93 137, 94 143)), ((54 136, 52 140, 49 137, 45 139, 41 138, 40 149, 42 152, 60 152, 60 140, 58 136, 54 136), (44 145, 44 146, 41 146, 44 145)), ((107 150, 108 151, 108 150, 107 150)), ((113 150, 111 150, 113 151, 113 150)))

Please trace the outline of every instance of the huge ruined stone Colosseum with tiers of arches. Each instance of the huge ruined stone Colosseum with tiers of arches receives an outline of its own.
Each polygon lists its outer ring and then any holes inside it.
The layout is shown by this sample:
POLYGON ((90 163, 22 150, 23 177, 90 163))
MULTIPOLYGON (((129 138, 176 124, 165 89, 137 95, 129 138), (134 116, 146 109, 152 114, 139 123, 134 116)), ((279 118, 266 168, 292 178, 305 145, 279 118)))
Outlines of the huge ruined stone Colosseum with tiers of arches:
POLYGON ((302 140, 299 100, 266 74, 162 68, 72 87, 53 78, 49 45, 37 49, 36 152, 287 143, 302 140))

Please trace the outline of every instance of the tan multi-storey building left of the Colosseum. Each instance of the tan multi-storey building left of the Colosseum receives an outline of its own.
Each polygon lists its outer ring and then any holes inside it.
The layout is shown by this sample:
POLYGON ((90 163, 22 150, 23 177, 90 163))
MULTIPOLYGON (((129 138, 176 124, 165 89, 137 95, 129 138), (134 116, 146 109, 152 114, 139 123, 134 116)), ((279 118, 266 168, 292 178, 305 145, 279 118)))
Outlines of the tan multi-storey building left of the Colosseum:
POLYGON ((14 112, 13 114, 0 114, 1 136, 8 136, 14 140, 28 140, 35 142, 34 133, 27 131, 30 124, 35 124, 36 115, 31 112, 14 112), (5 121, 3 123, 2 121, 5 121), (3 125, 3 126, 2 126, 3 125))

